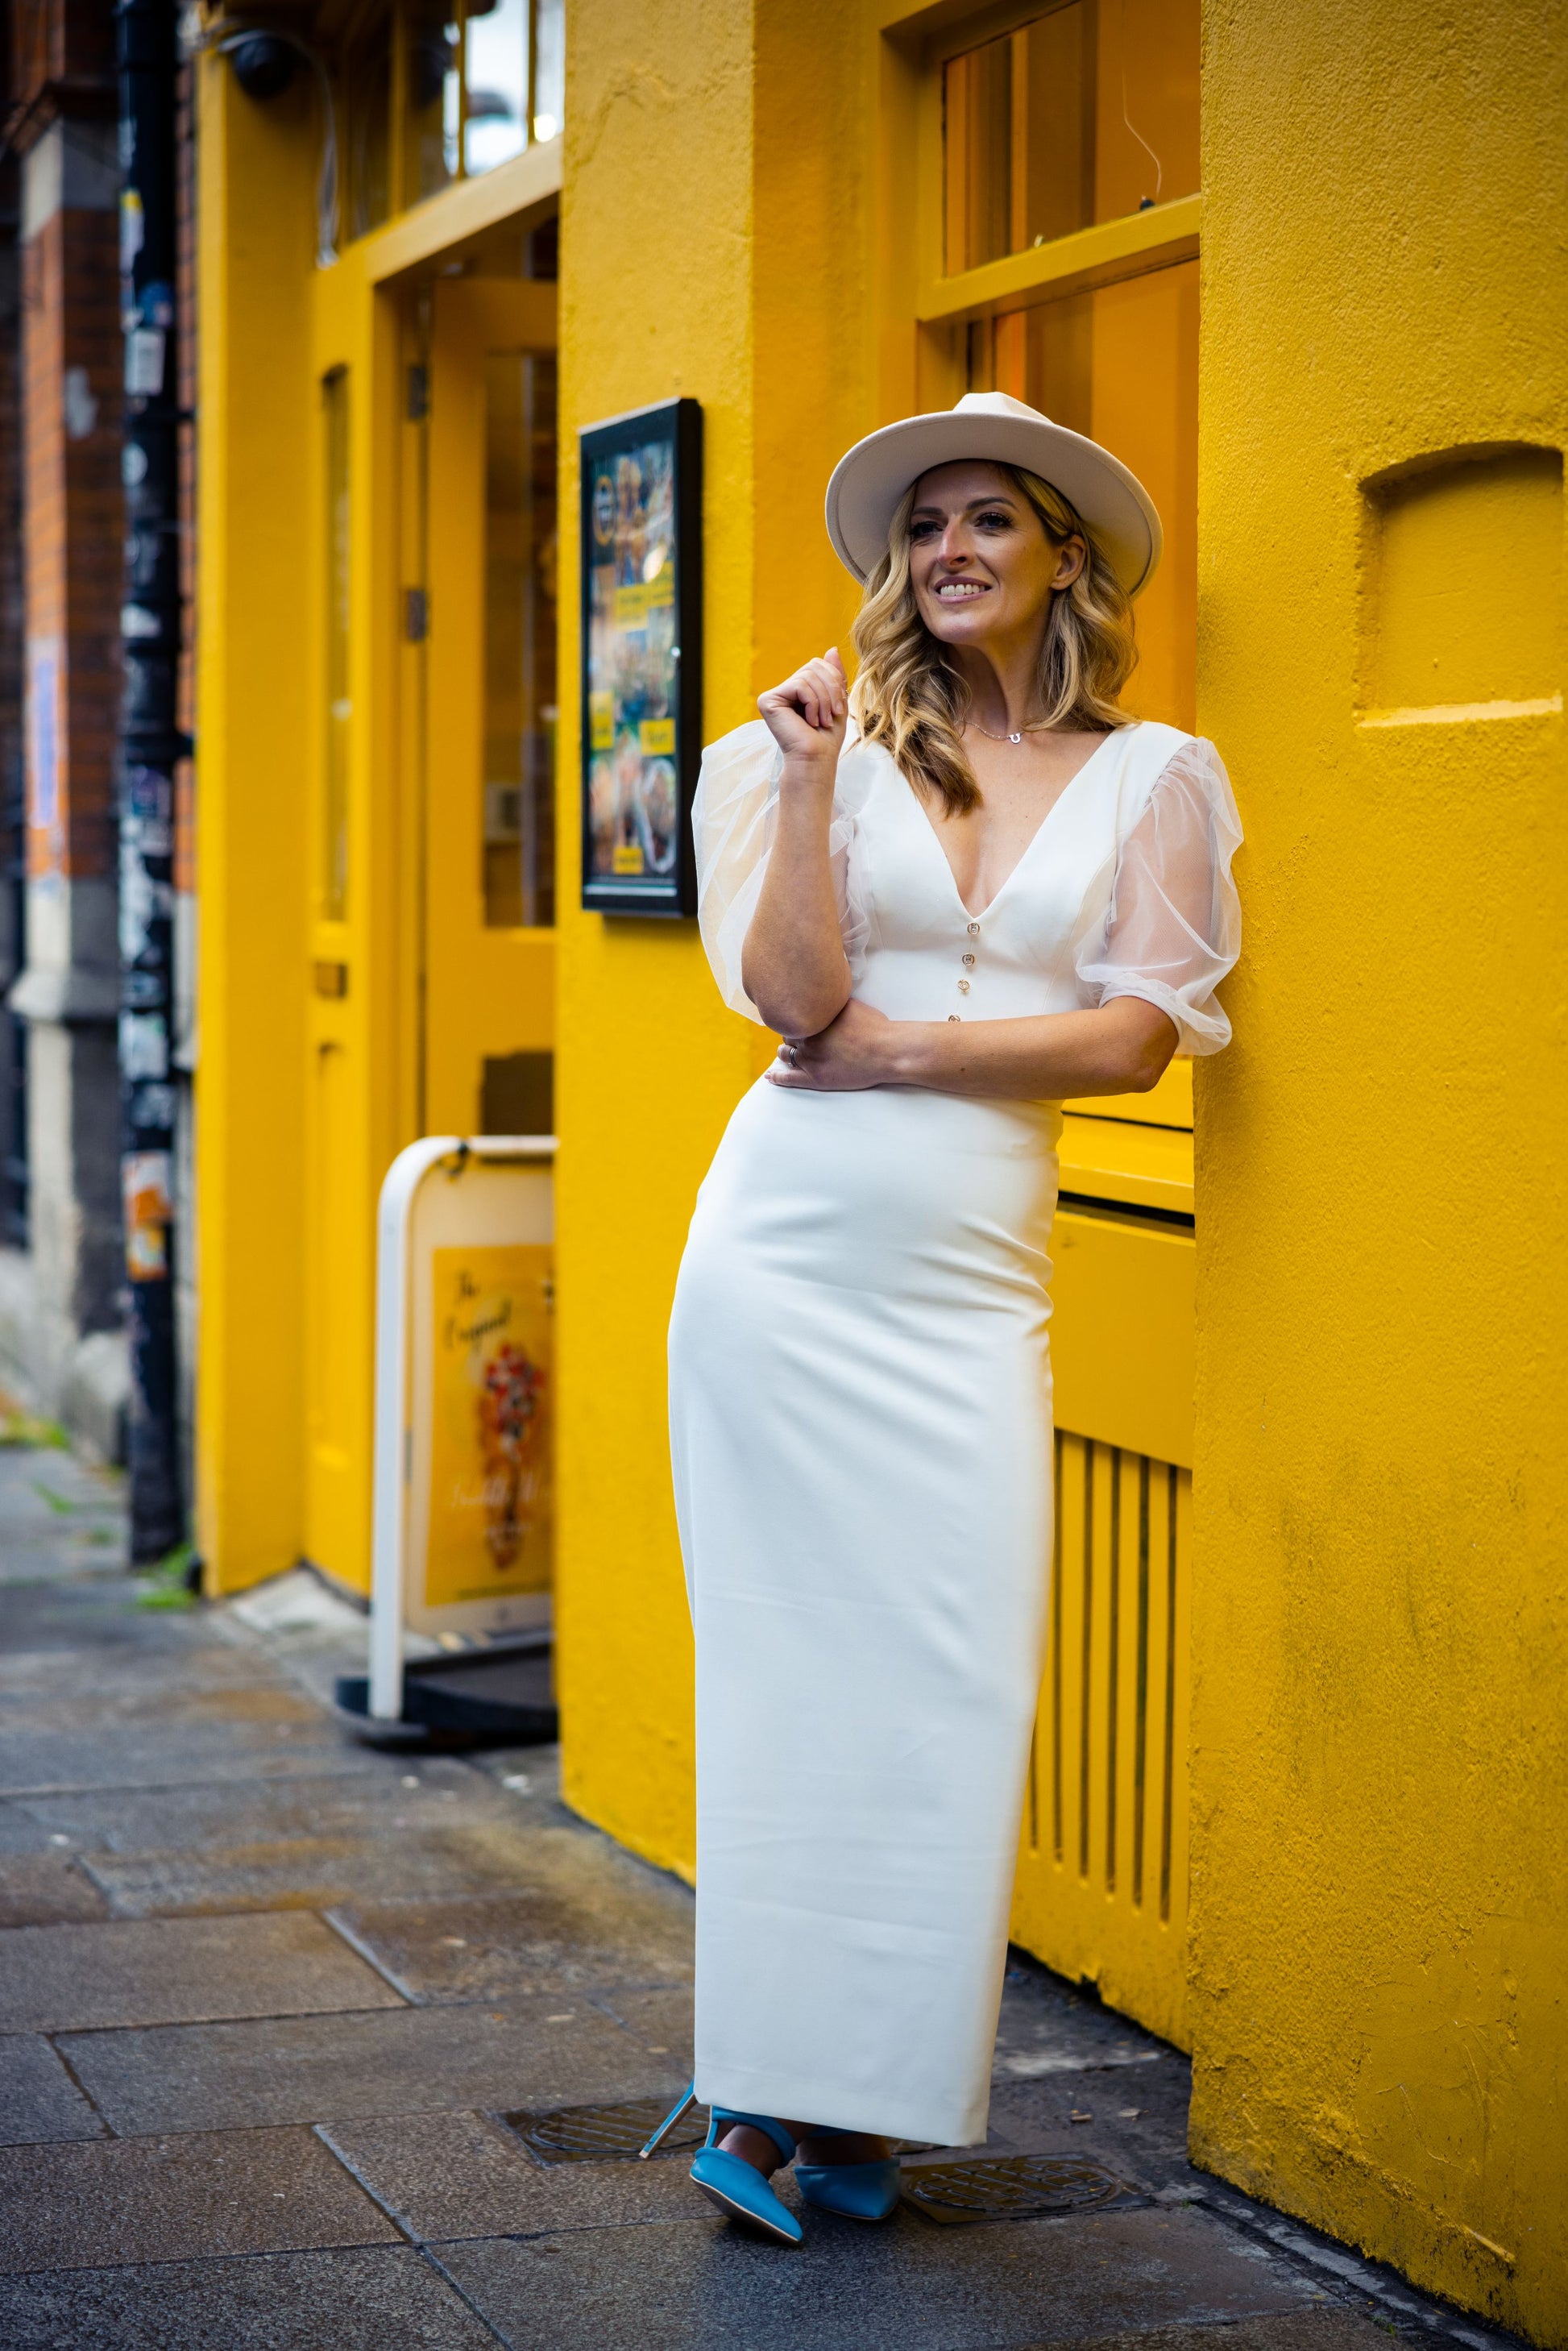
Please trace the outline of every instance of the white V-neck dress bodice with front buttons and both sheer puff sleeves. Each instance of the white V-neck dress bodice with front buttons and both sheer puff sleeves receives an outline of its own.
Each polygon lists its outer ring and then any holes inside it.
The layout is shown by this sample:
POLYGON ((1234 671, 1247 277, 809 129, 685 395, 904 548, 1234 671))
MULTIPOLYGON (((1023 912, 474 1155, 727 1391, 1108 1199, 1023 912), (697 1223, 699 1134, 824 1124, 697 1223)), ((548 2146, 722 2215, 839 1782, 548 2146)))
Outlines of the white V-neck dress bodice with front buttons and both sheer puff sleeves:
MULTIPOLYGON (((703 755, 693 806, 703 945, 724 1002, 752 1020, 741 950, 780 773, 755 719, 703 755)), ((1011 1020, 1145 997, 1171 1016, 1182 1053, 1218 1053, 1229 1023, 1213 992, 1241 945, 1239 842, 1213 743, 1140 719, 1098 743, 976 915, 891 755, 851 736, 830 853, 853 992, 893 1020, 1011 1020)))

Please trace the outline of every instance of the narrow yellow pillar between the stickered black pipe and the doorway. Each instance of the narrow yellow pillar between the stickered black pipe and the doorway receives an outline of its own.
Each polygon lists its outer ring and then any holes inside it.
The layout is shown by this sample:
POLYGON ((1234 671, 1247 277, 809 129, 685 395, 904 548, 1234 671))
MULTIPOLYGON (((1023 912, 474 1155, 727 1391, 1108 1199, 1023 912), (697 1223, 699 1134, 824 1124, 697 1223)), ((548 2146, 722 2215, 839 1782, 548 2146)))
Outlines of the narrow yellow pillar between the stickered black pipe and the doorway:
POLYGON ((299 1556, 306 776, 299 597, 315 383, 308 89, 200 63, 197 1545, 235 1589, 299 1556))

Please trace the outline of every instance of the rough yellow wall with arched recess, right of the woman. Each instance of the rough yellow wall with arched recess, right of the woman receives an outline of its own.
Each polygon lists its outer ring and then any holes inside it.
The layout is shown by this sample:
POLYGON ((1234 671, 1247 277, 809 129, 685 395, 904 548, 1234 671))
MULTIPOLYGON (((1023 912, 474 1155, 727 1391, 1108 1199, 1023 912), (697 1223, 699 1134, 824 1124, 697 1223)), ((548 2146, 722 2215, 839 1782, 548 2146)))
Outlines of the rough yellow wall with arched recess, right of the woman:
POLYGON ((1566 146, 1561 0, 1208 5, 1192 2144, 1552 2344, 1566 146))

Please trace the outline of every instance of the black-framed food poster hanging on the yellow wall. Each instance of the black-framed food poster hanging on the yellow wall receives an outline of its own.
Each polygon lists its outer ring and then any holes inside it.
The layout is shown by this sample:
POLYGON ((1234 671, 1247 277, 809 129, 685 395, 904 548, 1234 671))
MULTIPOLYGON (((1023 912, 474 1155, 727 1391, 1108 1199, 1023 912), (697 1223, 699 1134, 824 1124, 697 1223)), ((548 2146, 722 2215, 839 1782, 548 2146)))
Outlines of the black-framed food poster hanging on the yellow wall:
POLYGON ((583 905, 696 915, 703 757, 703 411, 581 433, 583 905))

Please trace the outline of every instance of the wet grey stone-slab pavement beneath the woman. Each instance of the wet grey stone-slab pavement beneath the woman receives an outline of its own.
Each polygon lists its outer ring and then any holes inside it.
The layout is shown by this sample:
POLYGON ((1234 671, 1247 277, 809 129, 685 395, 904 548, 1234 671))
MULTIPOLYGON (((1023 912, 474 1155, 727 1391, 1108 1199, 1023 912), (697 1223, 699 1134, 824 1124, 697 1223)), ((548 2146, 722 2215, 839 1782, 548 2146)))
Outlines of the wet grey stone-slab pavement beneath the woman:
POLYGON ((691 1897, 552 1749, 357 1744, 362 1669, 303 1570, 139 1606, 115 1479, 0 1448, 7 2351, 1507 2342, 1194 2172, 1185 2059, 1023 1956, 983 2154, 1056 2158, 1077 2210, 780 2250, 679 2154, 541 2161, 529 2116, 602 2137, 682 2088, 691 1897))

